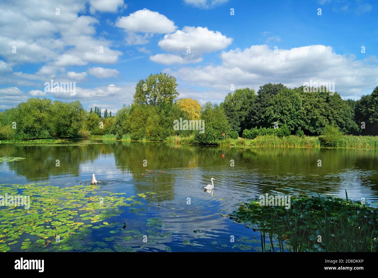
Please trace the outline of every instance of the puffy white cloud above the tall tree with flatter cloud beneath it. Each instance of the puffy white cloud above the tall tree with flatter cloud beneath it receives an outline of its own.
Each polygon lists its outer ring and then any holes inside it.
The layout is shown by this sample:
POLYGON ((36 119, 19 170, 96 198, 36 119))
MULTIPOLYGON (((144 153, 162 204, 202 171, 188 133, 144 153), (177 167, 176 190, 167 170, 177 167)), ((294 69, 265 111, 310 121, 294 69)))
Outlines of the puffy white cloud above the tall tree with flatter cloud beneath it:
POLYGON ((196 63, 202 61, 203 53, 224 49, 231 43, 232 38, 222 35, 219 31, 214 32, 207 27, 185 26, 183 30, 166 34, 158 43, 161 49, 176 54, 156 54, 150 56, 150 59, 166 65, 196 63), (178 54, 180 52, 181 54, 178 54))

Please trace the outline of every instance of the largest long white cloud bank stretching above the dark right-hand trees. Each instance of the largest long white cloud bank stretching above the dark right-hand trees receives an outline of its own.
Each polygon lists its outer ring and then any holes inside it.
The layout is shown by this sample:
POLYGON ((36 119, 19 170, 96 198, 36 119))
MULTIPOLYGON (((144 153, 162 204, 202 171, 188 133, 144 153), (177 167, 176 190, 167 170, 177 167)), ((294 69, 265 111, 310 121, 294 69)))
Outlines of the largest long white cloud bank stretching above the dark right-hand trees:
POLYGON ((221 54, 221 65, 182 67, 165 72, 192 85, 229 92, 235 88, 258 89, 268 82, 299 87, 304 82, 335 82, 336 92, 345 98, 359 98, 370 93, 378 84, 378 66, 354 56, 336 54, 332 47, 310 45, 279 49, 277 53, 267 45, 236 48, 221 54), (242 63, 240 61, 243 61, 242 63))

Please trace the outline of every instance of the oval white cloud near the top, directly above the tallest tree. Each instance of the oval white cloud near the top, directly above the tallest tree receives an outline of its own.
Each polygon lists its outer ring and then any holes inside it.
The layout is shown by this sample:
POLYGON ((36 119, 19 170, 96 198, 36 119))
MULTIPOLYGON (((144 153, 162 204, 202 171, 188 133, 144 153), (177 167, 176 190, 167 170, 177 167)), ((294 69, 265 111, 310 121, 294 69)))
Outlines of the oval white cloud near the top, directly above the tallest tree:
POLYGON ((119 17, 115 26, 131 33, 171 33, 177 29, 175 23, 163 14, 149 9, 133 12, 129 16, 119 17))

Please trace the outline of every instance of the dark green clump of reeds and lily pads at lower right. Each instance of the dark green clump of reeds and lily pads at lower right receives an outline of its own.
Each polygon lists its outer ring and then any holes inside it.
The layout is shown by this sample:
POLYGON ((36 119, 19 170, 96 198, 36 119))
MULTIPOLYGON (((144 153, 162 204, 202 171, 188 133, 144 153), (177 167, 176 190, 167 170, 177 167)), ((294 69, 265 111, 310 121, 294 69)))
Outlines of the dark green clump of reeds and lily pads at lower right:
POLYGON ((263 252, 378 252, 377 214, 377 208, 352 202, 348 196, 318 195, 291 196, 288 209, 253 201, 229 217, 260 232, 263 252))

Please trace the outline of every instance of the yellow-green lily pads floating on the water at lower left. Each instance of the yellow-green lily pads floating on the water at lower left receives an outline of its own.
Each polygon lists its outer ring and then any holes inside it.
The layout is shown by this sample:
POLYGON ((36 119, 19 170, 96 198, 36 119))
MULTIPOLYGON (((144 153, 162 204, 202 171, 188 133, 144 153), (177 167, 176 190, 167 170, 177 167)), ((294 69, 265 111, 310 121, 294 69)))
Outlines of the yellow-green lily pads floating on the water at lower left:
POLYGON ((83 240, 99 228, 107 228, 111 234, 123 230, 125 223, 105 220, 121 215, 122 207, 141 205, 140 199, 153 194, 127 197, 126 193, 98 192, 98 189, 96 185, 61 188, 47 183, 0 184, 1 196, 7 193, 30 197, 29 209, 7 206, 0 210, 0 252, 12 248, 31 252, 102 251, 99 247, 107 246, 106 243, 83 244, 83 240), (93 244, 98 247, 93 248, 93 244))

